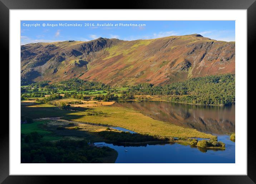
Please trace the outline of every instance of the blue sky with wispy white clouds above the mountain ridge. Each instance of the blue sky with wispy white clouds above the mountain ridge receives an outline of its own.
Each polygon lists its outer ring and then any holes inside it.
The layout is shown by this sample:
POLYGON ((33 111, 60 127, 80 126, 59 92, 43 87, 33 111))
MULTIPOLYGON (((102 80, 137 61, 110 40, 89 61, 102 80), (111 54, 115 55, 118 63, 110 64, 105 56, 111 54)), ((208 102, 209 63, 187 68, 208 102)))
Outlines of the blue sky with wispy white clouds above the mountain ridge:
POLYGON ((35 42, 154 39, 200 34, 235 41, 235 21, 21 21, 21 45, 35 42))

